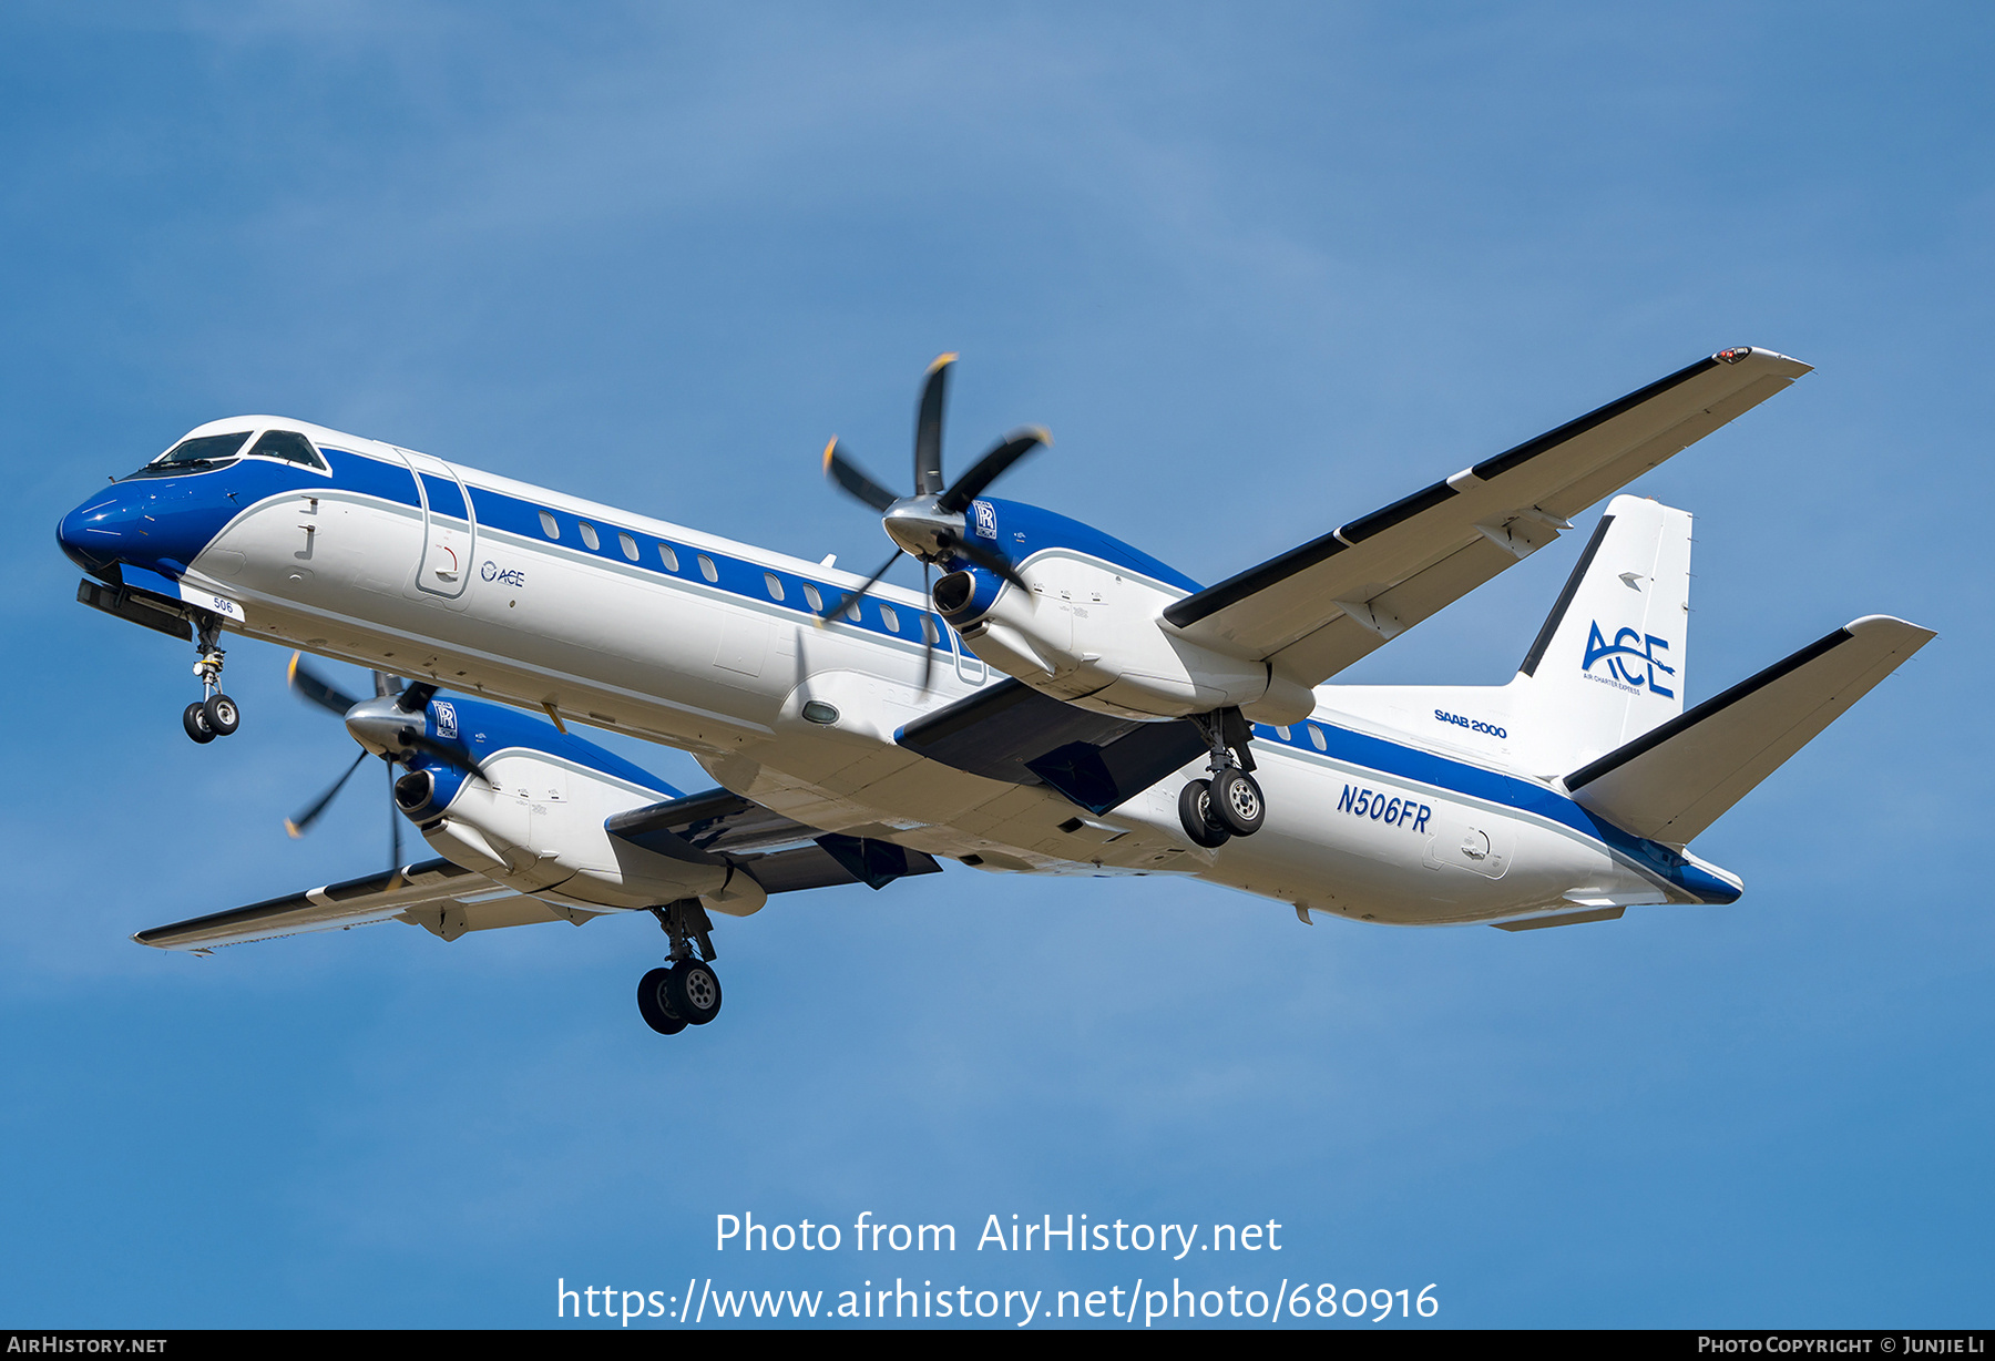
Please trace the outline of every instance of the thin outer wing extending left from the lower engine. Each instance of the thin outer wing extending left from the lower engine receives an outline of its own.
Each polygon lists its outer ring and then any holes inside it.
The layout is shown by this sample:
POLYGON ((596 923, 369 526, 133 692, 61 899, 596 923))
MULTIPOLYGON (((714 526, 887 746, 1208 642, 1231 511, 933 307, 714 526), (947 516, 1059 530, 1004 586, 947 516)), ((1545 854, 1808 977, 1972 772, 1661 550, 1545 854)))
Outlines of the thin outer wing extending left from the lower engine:
POLYGON ((581 926, 591 916, 595 914, 517 894, 461 864, 423 860, 401 870, 251 902, 247 908, 154 926, 132 940, 160 950, 215 950, 245 940, 345 930, 387 920, 411 922, 445 940, 457 940, 467 930, 561 920, 581 926))

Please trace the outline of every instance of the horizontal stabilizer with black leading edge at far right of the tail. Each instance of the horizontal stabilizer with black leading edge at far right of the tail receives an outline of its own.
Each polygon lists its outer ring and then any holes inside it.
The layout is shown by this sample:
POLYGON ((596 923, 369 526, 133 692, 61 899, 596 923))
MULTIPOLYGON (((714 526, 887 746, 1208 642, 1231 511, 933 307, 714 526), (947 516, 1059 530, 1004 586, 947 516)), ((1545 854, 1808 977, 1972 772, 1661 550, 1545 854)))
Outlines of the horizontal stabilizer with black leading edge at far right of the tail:
POLYGON ((1774 774, 1931 629, 1867 615, 1566 776, 1590 812, 1682 846, 1774 774))

